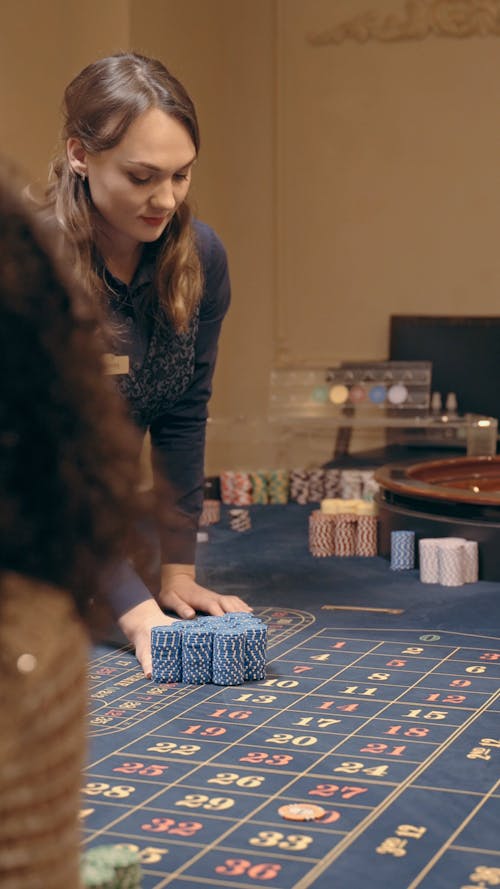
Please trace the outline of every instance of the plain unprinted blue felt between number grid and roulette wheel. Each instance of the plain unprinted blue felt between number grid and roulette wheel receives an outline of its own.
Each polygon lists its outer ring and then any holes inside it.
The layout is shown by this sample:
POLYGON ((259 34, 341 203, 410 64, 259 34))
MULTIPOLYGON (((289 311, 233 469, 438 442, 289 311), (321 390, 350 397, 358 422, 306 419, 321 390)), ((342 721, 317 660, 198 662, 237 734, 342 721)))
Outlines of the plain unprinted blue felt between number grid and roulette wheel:
MULTIPOLYGON (((199 583, 231 593, 252 606, 305 608, 335 605, 403 609, 407 626, 465 632, 500 630, 500 583, 479 581, 460 587, 423 584, 417 569, 393 571, 382 557, 316 558, 308 550, 308 519, 317 506, 252 506, 249 531, 233 531, 228 509, 198 544, 199 583)), ((335 621, 380 620, 378 612, 336 611, 335 621), (363 618, 366 614, 366 618, 363 618)), ((401 625, 401 616, 394 617, 401 625)))

